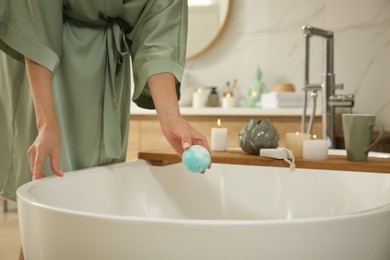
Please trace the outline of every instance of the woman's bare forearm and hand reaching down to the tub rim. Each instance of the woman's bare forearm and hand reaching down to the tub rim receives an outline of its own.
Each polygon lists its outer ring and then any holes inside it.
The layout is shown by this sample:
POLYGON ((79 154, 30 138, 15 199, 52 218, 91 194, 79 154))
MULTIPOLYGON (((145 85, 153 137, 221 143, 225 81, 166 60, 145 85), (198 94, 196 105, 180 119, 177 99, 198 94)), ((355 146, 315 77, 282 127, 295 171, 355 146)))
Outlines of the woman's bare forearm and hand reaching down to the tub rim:
POLYGON ((28 150, 33 179, 45 176, 42 166, 45 157, 50 157, 52 171, 62 176, 59 168, 61 134, 54 108, 52 92, 52 73, 38 63, 25 58, 26 71, 34 101, 38 136, 28 150))

